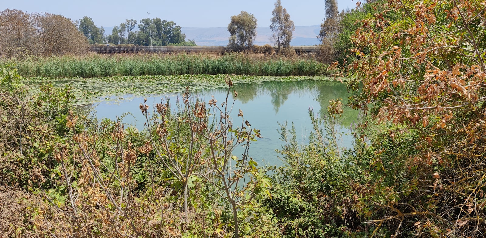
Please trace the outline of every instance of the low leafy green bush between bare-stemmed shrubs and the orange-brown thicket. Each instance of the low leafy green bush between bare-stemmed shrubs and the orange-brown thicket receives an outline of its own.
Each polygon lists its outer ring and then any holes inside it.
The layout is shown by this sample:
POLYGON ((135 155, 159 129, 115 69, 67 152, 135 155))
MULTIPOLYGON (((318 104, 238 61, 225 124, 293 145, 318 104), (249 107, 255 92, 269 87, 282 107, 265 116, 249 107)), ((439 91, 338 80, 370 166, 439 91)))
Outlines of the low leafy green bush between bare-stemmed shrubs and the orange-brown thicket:
POLYGON ((343 237, 360 225, 353 209, 357 188, 364 177, 361 161, 339 148, 337 120, 319 119, 310 113, 313 133, 306 145, 298 145, 295 129, 281 125, 282 160, 272 179, 272 209, 286 238, 343 237))

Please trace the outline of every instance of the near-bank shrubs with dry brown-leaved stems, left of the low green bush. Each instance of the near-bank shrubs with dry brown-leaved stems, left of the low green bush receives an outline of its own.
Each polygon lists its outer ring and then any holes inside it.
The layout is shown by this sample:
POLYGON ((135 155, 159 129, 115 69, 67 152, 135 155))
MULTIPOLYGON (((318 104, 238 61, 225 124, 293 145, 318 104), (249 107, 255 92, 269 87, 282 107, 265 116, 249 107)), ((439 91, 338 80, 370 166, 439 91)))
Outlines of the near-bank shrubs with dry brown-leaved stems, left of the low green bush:
POLYGON ((20 80, 3 68, 0 199, 9 205, 0 214, 12 216, 0 221, 4 235, 278 236, 258 202, 270 182, 246 153, 260 135, 243 119, 233 126, 227 100, 206 106, 185 94, 178 112, 140 104, 149 126, 140 133, 77 115, 69 88, 46 85, 25 97, 20 80), (240 144, 246 150, 236 157, 240 144))

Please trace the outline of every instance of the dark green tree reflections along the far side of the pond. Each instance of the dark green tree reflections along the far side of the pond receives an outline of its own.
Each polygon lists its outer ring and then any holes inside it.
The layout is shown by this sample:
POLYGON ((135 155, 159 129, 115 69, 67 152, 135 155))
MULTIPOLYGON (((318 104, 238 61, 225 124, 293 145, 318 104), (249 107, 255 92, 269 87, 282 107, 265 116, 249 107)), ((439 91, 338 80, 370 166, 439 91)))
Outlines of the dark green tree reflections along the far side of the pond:
MULTIPOLYGON (((224 92, 227 89, 218 88, 211 89, 224 92)), ((315 101, 319 102, 321 109, 319 114, 321 116, 328 115, 327 107, 329 101, 332 99, 341 98, 343 103, 347 103, 346 86, 340 82, 335 81, 314 81, 314 80, 302 80, 302 81, 271 81, 263 84, 238 84, 235 85, 234 90, 238 92, 238 100, 240 102, 251 102, 260 95, 269 95, 271 102, 274 106, 274 110, 278 113, 278 109, 289 99, 290 94, 297 95, 309 95, 313 94, 315 101)), ((261 97, 264 98, 264 97, 261 97)), ((304 105, 303 105, 304 106, 304 105)), ((307 105, 308 106, 308 105, 307 105)), ((348 126, 354 119, 357 118, 358 112, 349 108, 343 108, 343 126, 348 126)))

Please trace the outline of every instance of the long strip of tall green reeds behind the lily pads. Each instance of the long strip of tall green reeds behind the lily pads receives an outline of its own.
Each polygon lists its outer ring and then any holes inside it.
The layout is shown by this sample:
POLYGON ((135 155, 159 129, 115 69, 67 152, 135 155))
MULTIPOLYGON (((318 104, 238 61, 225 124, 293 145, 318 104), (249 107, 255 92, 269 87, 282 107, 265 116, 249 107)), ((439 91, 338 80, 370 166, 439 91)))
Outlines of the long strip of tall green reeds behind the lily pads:
POLYGON ((24 77, 107 77, 180 74, 268 76, 324 75, 326 66, 310 57, 276 57, 246 53, 86 54, 17 61, 24 77))

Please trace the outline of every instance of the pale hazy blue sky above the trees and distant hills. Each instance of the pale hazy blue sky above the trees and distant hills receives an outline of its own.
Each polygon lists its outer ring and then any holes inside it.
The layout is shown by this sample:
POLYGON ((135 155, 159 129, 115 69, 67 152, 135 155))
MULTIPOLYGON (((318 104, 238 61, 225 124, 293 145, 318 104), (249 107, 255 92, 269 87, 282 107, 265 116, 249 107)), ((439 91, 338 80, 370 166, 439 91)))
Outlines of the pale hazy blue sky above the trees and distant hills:
MULTIPOLYGON (((337 0, 339 10, 356 7, 358 0, 337 0)), ((324 0, 281 0, 296 26, 322 23, 324 0)), ((227 27, 230 17, 247 11, 255 15, 258 26, 269 26, 275 0, 5 0, 4 10, 17 9, 61 14, 72 20, 91 17, 100 27, 120 25, 125 19, 159 17, 181 27, 227 27)))

